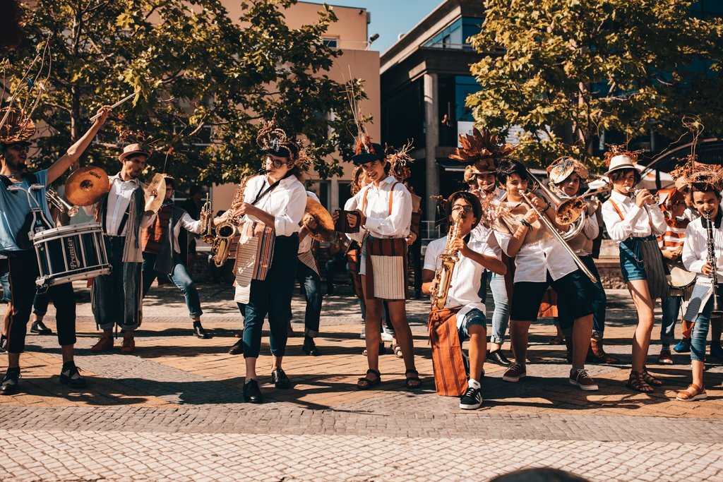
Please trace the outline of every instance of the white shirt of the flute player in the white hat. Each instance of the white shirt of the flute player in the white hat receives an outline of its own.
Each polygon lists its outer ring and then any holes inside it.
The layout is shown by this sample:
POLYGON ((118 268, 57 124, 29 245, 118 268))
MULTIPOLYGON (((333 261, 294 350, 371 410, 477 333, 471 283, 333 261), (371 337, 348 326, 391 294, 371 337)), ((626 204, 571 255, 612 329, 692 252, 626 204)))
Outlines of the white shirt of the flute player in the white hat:
POLYGON ((630 236, 658 236, 667 229, 665 217, 660 207, 656 204, 638 207, 635 198, 629 195, 612 191, 610 198, 602 205, 602 220, 607 228, 607 233, 613 241, 625 241, 630 236), (615 201, 623 219, 617 214, 612 202, 615 201), (652 226, 652 228, 651 228, 652 226))

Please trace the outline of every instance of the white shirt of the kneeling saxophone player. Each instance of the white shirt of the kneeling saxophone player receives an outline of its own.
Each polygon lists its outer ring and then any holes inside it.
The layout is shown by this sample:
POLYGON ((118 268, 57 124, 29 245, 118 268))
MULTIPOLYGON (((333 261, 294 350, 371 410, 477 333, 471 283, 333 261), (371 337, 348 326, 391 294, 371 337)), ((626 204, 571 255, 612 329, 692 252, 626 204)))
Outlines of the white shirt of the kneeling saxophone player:
MULTIPOLYGON (((430 241, 427 245, 427 252, 424 254, 424 270, 436 272, 442 266, 440 254, 445 251, 447 245, 447 237, 430 241)), ((502 251, 499 246, 493 249, 486 242, 470 237, 467 246, 472 251, 484 254, 497 259, 501 258, 502 251)), ((457 313, 457 325, 461 326, 464 315, 471 309, 479 309, 482 313, 486 313, 484 303, 479 298, 479 288, 482 282, 482 272, 484 267, 482 264, 475 262, 473 259, 464 257, 459 254, 459 261, 455 263, 452 272, 452 280, 450 281, 450 289, 447 294, 447 303, 445 308, 460 308, 457 313)))

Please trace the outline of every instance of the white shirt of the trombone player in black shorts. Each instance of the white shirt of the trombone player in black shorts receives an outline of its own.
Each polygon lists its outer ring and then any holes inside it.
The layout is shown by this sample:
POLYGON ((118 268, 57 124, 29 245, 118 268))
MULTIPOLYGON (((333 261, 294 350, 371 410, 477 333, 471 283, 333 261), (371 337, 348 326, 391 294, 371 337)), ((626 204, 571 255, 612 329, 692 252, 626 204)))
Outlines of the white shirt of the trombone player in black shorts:
MULTIPOLYGON (((547 229, 542 225, 542 229, 547 229)), ((509 246, 512 235, 494 231, 497 243, 502 251, 509 256, 509 246)), ((578 265, 570 253, 560 246, 557 238, 545 237, 540 241, 523 244, 515 255, 515 283, 529 281, 544 283, 547 281, 547 272, 553 280, 570 274, 578 269, 578 265)))

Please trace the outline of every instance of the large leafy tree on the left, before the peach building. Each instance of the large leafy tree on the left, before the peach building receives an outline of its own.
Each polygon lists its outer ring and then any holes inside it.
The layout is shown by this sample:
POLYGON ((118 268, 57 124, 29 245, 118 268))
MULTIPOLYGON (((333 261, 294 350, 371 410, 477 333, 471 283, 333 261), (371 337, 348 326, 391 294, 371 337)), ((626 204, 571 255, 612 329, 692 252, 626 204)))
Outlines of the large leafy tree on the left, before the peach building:
MULTIPOLYGON (((121 142, 143 140, 142 134, 159 152, 149 170, 160 171, 172 149, 172 171, 181 181, 237 180, 260 167, 256 124, 273 116, 288 132, 305 134, 320 157, 337 150, 348 155, 345 86, 324 73, 340 55, 322 43, 335 14, 320 6, 315 24, 292 30, 283 10, 294 3, 241 2, 237 21, 221 0, 25 5, 27 40, 10 59, 9 90, 49 38, 51 76, 35 112, 48 126, 38 141, 40 163, 80 137, 98 107, 136 90, 132 105, 118 109, 88 153, 88 162, 109 173, 118 170, 121 142)), ((315 167, 320 176, 341 171, 338 158, 315 167)))

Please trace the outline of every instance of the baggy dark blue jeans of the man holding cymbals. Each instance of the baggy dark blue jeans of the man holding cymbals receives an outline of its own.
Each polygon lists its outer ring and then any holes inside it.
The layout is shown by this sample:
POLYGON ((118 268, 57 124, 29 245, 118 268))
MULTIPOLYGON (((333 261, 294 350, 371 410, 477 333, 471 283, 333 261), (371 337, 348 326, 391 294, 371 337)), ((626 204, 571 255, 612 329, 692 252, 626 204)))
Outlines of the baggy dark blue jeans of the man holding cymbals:
POLYGON ((140 322, 141 263, 124 263, 125 236, 103 236, 112 271, 95 277, 91 305, 95 323, 101 330, 111 330, 117 323, 121 330, 133 331, 140 322))

